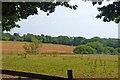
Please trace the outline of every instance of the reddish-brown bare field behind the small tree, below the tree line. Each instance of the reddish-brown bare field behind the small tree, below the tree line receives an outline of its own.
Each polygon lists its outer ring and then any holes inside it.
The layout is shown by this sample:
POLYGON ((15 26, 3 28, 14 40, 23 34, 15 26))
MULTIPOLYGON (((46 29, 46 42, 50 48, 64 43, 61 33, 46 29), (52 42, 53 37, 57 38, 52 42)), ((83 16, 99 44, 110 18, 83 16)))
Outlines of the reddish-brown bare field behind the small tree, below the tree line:
MULTIPOLYGON (((23 45, 26 42, 17 42, 17 41, 3 41, 2 43, 2 53, 23 53, 24 48, 23 45)), ((73 46, 65 46, 58 44, 42 44, 39 48, 40 52, 60 52, 60 53, 73 53, 73 46)))

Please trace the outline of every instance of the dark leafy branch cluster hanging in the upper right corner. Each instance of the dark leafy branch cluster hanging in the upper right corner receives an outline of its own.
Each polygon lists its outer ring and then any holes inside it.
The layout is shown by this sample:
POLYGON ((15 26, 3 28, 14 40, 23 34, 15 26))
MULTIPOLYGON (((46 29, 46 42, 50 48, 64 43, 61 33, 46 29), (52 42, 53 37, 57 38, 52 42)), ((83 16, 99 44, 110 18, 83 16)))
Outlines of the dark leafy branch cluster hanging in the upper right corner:
POLYGON ((96 16, 96 18, 103 18, 104 22, 120 22, 120 1, 98 8, 98 10, 100 13, 96 16))

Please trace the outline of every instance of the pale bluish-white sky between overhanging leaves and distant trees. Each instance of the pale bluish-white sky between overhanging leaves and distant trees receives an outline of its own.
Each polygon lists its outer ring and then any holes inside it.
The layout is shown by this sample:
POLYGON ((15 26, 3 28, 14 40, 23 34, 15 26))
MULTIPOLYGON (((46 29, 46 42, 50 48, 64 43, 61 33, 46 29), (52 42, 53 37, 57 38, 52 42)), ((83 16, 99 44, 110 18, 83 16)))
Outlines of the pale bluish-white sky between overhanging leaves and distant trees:
MULTIPOLYGON (((82 0, 73 0, 70 4, 77 4, 77 10, 59 6, 49 16, 45 12, 39 11, 38 15, 30 16, 27 20, 20 21, 21 28, 12 29, 11 33, 19 33, 20 35, 32 33, 51 36, 118 38, 118 24, 103 22, 101 19, 95 18, 99 13, 97 10, 99 5, 93 6, 92 2, 84 2, 82 0)), ((108 2, 103 2, 103 5, 106 4, 108 2)))

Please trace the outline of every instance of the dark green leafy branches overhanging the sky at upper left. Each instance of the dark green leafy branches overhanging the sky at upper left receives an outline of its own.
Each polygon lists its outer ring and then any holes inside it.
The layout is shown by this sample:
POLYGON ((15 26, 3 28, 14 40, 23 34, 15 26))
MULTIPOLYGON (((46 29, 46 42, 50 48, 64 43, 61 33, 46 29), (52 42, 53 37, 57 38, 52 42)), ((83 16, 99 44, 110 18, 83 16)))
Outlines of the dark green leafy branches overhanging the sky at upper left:
POLYGON ((27 19, 30 15, 37 15, 38 9, 49 15, 57 6, 65 6, 76 9, 77 5, 68 2, 3 2, 2 3, 2 31, 10 31, 14 27, 20 27, 16 22, 27 19))

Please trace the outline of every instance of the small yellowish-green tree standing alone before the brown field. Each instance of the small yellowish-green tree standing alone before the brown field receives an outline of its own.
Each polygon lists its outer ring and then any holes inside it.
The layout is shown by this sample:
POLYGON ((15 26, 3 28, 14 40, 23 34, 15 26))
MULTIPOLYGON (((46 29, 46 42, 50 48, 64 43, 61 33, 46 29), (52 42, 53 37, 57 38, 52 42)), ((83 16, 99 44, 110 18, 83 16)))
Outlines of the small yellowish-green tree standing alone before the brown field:
POLYGON ((27 54, 38 54, 39 53, 39 47, 41 47, 41 42, 38 41, 37 39, 32 39, 31 43, 25 43, 25 45, 23 46, 24 50, 25 50, 25 57, 27 56, 27 54))

